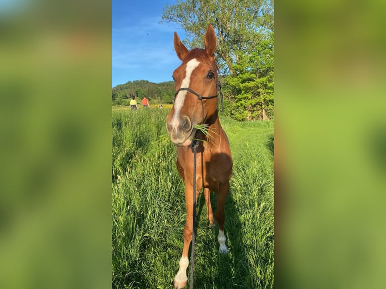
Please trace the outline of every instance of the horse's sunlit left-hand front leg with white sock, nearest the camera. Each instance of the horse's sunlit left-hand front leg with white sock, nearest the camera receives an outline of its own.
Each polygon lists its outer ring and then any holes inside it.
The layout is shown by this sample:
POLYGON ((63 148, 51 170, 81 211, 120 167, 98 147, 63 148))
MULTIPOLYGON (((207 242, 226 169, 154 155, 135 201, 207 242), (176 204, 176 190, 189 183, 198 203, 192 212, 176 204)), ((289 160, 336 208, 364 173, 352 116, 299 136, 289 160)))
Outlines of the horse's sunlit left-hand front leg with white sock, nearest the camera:
MULTIPOLYGON (((201 188, 196 191, 196 204, 201 188)), ((183 229, 183 250, 179 260, 179 270, 174 277, 174 288, 183 288, 186 285, 186 269, 189 265, 189 246, 192 238, 193 228, 193 186, 185 183, 185 201, 186 201, 186 223, 183 229)))

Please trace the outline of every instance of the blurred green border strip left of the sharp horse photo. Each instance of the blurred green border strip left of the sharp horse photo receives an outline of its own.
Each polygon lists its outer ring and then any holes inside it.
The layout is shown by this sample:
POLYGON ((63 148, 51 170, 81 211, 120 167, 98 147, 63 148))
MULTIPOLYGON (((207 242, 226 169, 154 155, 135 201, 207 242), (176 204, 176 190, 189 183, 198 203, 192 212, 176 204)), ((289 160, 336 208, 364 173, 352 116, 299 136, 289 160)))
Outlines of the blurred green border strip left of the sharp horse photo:
POLYGON ((111 286, 111 3, 0 13, 0 287, 111 286))

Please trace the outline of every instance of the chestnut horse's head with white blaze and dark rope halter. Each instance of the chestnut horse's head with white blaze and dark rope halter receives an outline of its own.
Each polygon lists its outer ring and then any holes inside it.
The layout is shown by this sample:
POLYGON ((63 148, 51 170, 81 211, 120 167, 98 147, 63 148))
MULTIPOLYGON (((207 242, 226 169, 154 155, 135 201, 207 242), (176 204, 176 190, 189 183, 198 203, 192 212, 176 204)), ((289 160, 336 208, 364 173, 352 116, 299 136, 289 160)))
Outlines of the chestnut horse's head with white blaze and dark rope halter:
POLYGON ((189 146, 196 124, 205 123, 217 111, 216 34, 209 24, 205 49, 190 51, 174 32, 174 49, 182 64, 174 70, 176 93, 166 127, 176 146, 189 146))

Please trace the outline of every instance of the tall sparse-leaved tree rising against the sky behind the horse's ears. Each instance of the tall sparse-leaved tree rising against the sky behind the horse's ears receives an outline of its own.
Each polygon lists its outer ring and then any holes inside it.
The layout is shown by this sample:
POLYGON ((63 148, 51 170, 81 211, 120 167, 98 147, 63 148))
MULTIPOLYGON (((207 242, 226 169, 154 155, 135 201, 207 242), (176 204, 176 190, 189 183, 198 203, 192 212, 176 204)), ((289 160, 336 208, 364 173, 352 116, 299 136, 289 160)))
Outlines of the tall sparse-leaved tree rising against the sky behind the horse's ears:
POLYGON ((204 47, 202 35, 211 23, 217 30, 217 61, 223 73, 232 75, 239 52, 248 53, 274 31, 274 1, 177 0, 165 5, 162 19, 184 29, 183 42, 190 47, 204 47))

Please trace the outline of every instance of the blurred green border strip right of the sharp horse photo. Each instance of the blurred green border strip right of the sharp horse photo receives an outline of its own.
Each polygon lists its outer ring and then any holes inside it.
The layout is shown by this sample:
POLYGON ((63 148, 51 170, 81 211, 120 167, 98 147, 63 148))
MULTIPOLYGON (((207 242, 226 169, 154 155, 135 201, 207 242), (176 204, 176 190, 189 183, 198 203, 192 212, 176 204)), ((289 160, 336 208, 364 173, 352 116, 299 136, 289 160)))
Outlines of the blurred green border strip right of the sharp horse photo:
POLYGON ((275 285, 382 287, 386 6, 275 8, 275 285))

